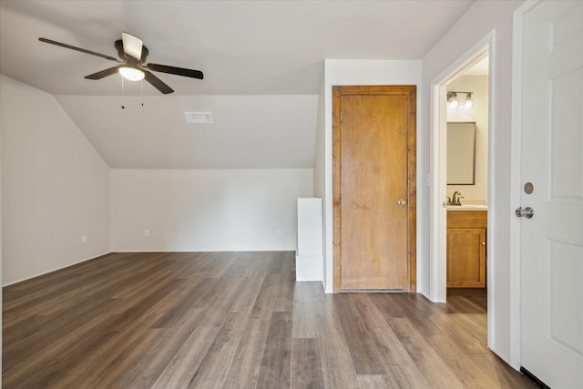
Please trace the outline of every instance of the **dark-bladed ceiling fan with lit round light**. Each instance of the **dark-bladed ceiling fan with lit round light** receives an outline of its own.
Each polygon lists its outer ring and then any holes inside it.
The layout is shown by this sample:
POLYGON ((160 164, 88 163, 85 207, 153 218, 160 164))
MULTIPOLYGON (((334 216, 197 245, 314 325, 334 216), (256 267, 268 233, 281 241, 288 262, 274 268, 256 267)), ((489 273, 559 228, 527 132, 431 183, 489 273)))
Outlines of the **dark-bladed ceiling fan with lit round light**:
POLYGON ((161 73, 169 73, 171 75, 199 78, 202 79, 202 72, 199 70, 186 69, 184 67, 169 67, 167 65, 158 64, 146 64, 146 58, 148 57, 148 47, 143 45, 141 39, 137 36, 132 36, 128 33, 121 33, 121 39, 116 41, 116 49, 118 50, 118 58, 113 56, 106 56, 104 54, 96 53, 95 51, 86 50, 85 48, 80 48, 76 46, 66 45, 61 42, 56 42, 51 39, 38 38, 39 41, 45 42, 51 45, 61 46, 65 48, 70 48, 72 50, 80 51, 81 53, 90 54, 92 56, 100 56, 102 58, 108 59, 110 61, 118 62, 121 65, 117 67, 109 67, 105 70, 101 70, 92 75, 86 76, 87 79, 101 79, 107 76, 111 76, 115 73, 121 74, 121 76, 127 78, 131 81, 138 81, 140 79, 146 79, 153 87, 156 87, 163 94, 168 94, 174 92, 174 89, 166 85, 159 77, 154 76, 148 70, 161 73))

